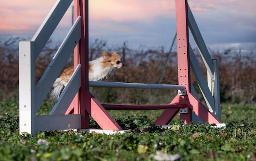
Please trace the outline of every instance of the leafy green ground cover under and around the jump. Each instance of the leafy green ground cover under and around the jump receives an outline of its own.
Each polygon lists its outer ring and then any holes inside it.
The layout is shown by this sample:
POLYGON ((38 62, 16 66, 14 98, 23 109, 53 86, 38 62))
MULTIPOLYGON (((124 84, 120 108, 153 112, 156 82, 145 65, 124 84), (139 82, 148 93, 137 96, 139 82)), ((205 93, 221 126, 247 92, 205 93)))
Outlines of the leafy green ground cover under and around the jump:
MULTIPOLYGON (((40 112, 47 113, 51 104, 40 112)), ((18 102, 0 102, 1 161, 255 161, 256 106, 222 105, 222 122, 229 128, 214 125, 182 126, 175 118, 170 129, 153 122, 161 111, 109 111, 131 133, 105 135, 68 131, 37 132, 19 135, 18 102)), ((97 124, 91 120, 91 124, 97 124)))

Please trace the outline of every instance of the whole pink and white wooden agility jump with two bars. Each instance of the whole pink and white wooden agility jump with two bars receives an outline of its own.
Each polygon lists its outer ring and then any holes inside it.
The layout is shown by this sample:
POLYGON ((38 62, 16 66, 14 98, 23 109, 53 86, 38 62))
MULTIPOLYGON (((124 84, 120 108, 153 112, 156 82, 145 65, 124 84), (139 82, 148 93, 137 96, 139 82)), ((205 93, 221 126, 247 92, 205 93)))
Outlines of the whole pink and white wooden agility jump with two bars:
POLYGON ((19 109, 20 133, 35 135, 36 131, 88 129, 89 115, 103 130, 122 130, 106 111, 165 109, 155 121, 167 125, 180 112, 185 124, 191 121, 220 123, 220 96, 218 60, 212 60, 195 22, 187 0, 176 0, 178 85, 133 84, 120 82, 88 81, 88 1, 74 0, 74 24, 49 63, 38 84, 35 84, 35 61, 72 0, 57 0, 51 11, 29 41, 19 42, 19 109), (189 28, 207 68, 207 81, 189 45, 189 28), (49 93, 65 62, 74 51, 75 71, 49 115, 37 116, 36 112, 49 93), (196 97, 191 85, 193 71, 206 108, 196 97), (208 83, 207 83, 208 82, 208 83), (166 105, 110 105, 101 104, 90 93, 90 86, 112 88, 174 89, 177 96, 166 105))

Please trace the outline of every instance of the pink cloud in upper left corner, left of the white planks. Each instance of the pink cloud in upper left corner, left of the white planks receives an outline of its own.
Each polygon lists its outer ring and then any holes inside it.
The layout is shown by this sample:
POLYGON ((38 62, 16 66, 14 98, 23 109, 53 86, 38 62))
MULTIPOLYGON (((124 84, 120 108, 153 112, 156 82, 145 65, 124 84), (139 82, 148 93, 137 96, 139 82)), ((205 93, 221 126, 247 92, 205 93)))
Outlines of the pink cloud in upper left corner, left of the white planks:
POLYGON ((54 0, 8 0, 0 3, 0 33, 35 31, 54 4, 54 0))

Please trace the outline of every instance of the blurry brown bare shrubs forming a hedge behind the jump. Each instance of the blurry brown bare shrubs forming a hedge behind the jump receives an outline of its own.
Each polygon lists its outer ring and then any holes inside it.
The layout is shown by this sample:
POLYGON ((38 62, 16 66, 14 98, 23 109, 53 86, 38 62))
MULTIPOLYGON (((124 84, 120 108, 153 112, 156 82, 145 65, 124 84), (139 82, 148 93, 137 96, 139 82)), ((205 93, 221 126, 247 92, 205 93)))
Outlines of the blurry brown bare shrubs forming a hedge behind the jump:
MULTIPOLYGON (((18 41, 10 38, 0 41, 0 100, 18 99, 18 41)), ((58 45, 49 41, 36 60, 36 83, 40 80, 58 45)), ((163 47, 157 49, 132 50, 124 42, 119 47, 109 47, 105 40, 95 40, 89 46, 89 60, 101 56, 102 51, 117 51, 123 59, 125 67, 117 70, 110 82, 133 82, 157 84, 162 73, 168 53, 163 47)), ((198 50, 194 50, 198 63, 206 78, 207 71, 200 59, 198 50)), ((243 53, 232 49, 226 51, 210 51, 213 59, 219 60, 220 98, 221 102, 252 104, 256 101, 256 57, 253 53, 243 53)), ((70 53, 72 54, 72 53, 70 53)), ((73 59, 67 61, 64 68, 72 66, 73 59)), ((195 77, 191 74, 191 82, 199 92, 195 77)), ((177 53, 171 53, 161 84, 178 84, 177 53)), ((116 102, 128 104, 148 104, 155 90, 91 88, 91 92, 102 103, 116 102)), ((159 90, 155 102, 167 104, 177 95, 175 90, 159 90)), ((202 98, 202 95, 200 95, 202 98)))

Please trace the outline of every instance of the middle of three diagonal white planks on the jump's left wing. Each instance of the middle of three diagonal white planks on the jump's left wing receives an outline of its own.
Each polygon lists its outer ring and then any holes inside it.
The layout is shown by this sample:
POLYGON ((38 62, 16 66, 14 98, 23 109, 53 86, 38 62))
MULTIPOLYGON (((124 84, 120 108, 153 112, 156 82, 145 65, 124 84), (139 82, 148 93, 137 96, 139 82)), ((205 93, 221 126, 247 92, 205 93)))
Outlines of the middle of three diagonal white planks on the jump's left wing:
POLYGON ((81 17, 76 19, 69 33, 62 42, 60 48, 54 55, 54 58, 50 62, 49 66, 45 70, 45 73, 41 77, 40 81, 36 85, 36 111, 40 108, 47 93, 52 87, 55 79, 58 77, 63 66, 66 64, 76 44, 81 39, 81 17))

